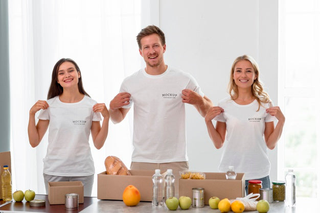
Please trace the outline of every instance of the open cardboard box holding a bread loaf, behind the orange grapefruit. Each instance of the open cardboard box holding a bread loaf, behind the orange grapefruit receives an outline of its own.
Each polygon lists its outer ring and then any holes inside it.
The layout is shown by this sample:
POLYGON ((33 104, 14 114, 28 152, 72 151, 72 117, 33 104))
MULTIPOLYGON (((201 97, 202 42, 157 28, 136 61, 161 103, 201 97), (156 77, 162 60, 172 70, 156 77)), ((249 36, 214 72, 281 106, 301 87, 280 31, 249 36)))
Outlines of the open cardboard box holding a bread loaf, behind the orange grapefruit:
POLYGON ((124 189, 128 185, 138 188, 141 201, 152 201, 153 182, 152 170, 129 170, 131 175, 107 175, 106 172, 98 174, 98 199, 122 200, 124 189))

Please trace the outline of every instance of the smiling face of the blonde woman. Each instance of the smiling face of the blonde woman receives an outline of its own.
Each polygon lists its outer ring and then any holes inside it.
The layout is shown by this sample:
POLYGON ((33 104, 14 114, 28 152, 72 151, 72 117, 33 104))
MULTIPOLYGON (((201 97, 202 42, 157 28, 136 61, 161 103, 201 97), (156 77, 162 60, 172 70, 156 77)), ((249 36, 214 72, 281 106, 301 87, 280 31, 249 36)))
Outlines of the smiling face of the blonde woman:
POLYGON ((255 68, 248 60, 238 61, 233 72, 233 80, 238 88, 251 88, 257 79, 255 68))

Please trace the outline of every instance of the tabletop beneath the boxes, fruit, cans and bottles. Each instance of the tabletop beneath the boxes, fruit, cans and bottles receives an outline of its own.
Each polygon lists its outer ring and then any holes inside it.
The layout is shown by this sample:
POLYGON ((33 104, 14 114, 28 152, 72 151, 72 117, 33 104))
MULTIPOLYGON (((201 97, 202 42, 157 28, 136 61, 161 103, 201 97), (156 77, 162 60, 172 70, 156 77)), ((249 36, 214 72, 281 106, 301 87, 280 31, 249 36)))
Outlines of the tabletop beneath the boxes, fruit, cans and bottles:
MULTIPOLYGON (((2 212, 68 212, 68 213, 94 213, 94 212, 114 212, 114 213, 162 213, 162 212, 184 212, 184 213, 219 213, 218 209, 211 209, 208 205, 203 208, 193 208, 192 206, 186 211, 178 207, 176 211, 171 211, 166 207, 152 207, 151 202, 140 202, 137 206, 126 206, 123 201, 115 200, 98 200, 96 197, 84 197, 84 203, 79 204, 78 209, 65 209, 62 205, 50 205, 47 195, 36 195, 35 199, 45 200, 45 206, 43 207, 31 207, 29 202, 25 200, 22 202, 9 203, 3 207, 0 207, 0 213, 2 212)), ((0 205, 5 203, 0 201, 0 205)), ((268 213, 300 213, 300 212, 317 212, 315 204, 319 203, 319 200, 314 199, 298 199, 294 208, 285 207, 284 202, 270 203, 270 209, 268 213)), ((232 211, 230 211, 232 212, 232 211)), ((257 213, 258 211, 247 211, 257 213)))

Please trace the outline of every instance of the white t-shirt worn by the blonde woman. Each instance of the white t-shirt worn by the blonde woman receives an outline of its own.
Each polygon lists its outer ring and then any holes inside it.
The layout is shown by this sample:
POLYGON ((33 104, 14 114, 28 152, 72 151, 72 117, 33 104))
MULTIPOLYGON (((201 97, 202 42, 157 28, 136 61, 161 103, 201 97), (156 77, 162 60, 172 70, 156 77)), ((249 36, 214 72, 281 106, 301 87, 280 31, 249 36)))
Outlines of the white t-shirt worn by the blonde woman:
POLYGON ((258 101, 239 105, 230 98, 218 103, 224 112, 214 120, 226 123, 226 140, 219 171, 226 172, 233 165, 236 172, 245 173, 245 179, 263 178, 270 174, 270 161, 264 140, 266 122, 276 121, 276 117, 266 112, 272 103, 258 101))

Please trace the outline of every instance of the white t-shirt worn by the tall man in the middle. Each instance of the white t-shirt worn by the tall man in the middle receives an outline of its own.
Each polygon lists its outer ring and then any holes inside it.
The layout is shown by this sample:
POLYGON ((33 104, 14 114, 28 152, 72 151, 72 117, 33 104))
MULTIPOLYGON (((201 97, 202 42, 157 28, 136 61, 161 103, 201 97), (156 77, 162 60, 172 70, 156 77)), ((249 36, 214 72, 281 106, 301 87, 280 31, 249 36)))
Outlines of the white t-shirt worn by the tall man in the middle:
POLYGON ((161 75, 148 75, 145 69, 127 77, 120 92, 131 94, 133 104, 134 162, 165 163, 187 161, 185 104, 182 89, 204 96, 196 80, 169 67, 161 75))

